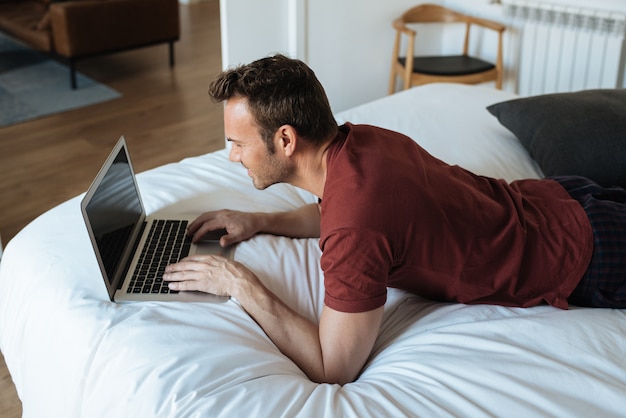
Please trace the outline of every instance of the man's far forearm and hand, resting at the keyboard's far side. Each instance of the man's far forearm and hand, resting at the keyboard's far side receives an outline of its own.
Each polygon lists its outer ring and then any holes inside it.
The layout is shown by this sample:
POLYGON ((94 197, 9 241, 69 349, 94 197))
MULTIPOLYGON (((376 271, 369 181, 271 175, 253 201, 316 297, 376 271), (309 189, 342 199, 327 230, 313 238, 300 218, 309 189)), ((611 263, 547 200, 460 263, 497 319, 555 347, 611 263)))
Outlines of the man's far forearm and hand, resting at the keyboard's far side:
POLYGON ((257 233, 291 238, 319 238, 320 208, 317 203, 313 203, 289 212, 207 212, 194 220, 188 231, 196 242, 209 231, 220 228, 225 228, 228 232, 220 240, 223 247, 244 241, 257 233))

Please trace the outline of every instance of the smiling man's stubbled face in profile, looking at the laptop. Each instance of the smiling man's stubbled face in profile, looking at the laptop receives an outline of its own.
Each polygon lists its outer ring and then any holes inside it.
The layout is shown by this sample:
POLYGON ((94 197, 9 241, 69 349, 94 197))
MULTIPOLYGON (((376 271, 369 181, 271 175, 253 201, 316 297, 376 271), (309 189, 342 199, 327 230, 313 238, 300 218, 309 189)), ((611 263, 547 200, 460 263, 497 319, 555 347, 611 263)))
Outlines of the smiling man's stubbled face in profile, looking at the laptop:
MULTIPOLYGON (((224 131, 232 144, 229 159, 248 169, 254 187, 265 189, 272 184, 289 182, 293 168, 282 152, 280 144, 270 154, 261 138, 259 128, 248 111, 243 98, 232 98, 224 107, 224 131)), ((275 143, 279 142, 278 136, 275 143)))

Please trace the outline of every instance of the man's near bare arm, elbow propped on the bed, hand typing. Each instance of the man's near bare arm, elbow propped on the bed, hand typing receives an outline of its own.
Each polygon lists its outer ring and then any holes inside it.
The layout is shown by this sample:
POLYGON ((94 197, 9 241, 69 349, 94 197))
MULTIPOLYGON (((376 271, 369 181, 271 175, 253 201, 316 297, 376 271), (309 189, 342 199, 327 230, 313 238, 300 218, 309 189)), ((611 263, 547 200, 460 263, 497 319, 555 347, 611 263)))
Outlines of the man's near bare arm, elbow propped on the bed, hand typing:
POLYGON ((369 357, 383 308, 343 313, 324 307, 320 324, 306 319, 269 291, 242 264, 219 256, 191 256, 168 266, 164 280, 174 290, 230 295, 276 346, 312 381, 354 381, 369 357))

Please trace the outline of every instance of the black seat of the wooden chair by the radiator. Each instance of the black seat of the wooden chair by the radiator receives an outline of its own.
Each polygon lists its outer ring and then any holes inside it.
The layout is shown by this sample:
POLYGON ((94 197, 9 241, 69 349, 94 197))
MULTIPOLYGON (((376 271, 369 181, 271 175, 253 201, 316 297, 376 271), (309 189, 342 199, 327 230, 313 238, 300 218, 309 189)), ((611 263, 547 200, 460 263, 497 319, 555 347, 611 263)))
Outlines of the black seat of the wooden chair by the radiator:
MULTIPOLYGON (((406 58, 398 58, 398 61, 404 66, 406 58)), ((430 75, 466 75, 480 73, 491 70, 495 65, 483 61, 478 58, 468 57, 467 55, 454 55, 444 57, 414 57, 413 72, 430 74, 430 75)))

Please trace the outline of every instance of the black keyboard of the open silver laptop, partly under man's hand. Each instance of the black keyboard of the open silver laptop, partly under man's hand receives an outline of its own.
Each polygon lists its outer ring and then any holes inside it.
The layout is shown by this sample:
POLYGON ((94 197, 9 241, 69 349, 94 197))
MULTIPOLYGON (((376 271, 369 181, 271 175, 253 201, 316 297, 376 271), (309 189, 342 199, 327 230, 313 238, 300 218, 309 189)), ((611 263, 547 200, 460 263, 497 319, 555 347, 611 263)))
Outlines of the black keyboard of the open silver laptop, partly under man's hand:
POLYGON ((152 223, 127 293, 178 293, 167 287, 163 273, 168 264, 189 255, 191 238, 186 230, 187 221, 156 220, 152 223))

